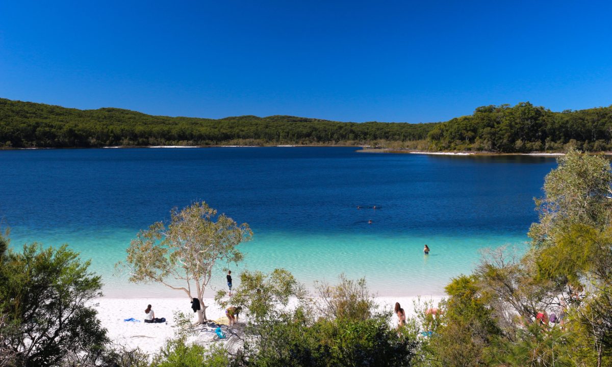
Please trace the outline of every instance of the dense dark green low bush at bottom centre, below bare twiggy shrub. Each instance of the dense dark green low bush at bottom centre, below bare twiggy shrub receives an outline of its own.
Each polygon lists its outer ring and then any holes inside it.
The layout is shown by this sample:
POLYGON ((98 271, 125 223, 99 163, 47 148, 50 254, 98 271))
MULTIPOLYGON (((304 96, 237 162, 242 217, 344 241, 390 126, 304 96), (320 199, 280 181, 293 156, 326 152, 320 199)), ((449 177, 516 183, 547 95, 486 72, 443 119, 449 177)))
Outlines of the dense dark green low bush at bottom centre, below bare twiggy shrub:
POLYGON ((247 366, 409 366, 416 341, 389 328, 388 318, 319 319, 282 316, 258 327, 247 366))

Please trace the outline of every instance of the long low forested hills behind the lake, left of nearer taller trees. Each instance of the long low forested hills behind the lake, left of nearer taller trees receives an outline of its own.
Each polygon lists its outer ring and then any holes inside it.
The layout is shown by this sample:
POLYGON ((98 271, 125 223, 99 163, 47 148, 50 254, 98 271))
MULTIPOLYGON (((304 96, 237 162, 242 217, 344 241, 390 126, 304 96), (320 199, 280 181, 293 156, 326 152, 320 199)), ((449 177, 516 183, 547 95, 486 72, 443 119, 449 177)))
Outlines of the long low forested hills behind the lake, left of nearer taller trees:
POLYGON ((436 124, 337 122, 294 116, 224 119, 81 110, 0 99, 0 147, 364 144, 417 141, 436 124))

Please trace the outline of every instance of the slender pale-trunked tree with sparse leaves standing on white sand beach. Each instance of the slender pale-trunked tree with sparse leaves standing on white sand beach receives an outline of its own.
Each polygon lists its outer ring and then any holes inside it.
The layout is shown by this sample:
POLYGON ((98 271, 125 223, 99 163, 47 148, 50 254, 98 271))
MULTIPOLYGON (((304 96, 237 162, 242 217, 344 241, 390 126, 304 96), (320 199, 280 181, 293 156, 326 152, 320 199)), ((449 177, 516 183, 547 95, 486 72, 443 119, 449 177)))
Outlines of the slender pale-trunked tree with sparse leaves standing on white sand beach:
POLYGON ((171 210, 169 223, 158 221, 140 231, 127 249, 125 266, 133 283, 160 283, 198 298, 198 322, 206 320, 204 290, 217 261, 239 262, 237 245, 251 239, 248 224, 237 224, 206 202, 171 210))

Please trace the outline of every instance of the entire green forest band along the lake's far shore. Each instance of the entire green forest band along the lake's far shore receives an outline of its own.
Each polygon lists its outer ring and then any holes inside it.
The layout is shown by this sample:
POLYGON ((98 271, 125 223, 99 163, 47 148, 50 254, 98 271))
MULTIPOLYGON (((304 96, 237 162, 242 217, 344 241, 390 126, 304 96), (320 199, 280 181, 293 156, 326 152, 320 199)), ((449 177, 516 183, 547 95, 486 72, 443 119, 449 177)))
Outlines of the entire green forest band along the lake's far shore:
POLYGON ((0 99, 0 147, 369 145, 524 153, 612 150, 612 107, 553 112, 529 102, 482 106, 446 122, 338 122, 296 116, 151 116, 0 99))

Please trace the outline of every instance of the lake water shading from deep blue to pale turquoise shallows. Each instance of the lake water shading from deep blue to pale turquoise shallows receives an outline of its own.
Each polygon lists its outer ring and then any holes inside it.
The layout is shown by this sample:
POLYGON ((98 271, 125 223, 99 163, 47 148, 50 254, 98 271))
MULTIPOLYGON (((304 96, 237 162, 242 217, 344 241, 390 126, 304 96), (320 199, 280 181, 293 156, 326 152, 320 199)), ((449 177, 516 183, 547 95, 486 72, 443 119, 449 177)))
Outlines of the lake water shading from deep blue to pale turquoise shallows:
MULTIPOLYGON (((195 199, 251 224, 234 272, 285 267, 308 286, 345 273, 365 276, 379 295, 436 295, 474 268, 482 248, 525 246, 532 198, 554 166, 353 148, 4 151, 0 215, 13 246, 69 243, 92 259, 112 297, 182 296, 128 284, 114 264, 138 229, 195 199)), ((225 286, 225 265, 214 287, 225 286)))

